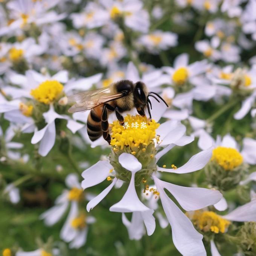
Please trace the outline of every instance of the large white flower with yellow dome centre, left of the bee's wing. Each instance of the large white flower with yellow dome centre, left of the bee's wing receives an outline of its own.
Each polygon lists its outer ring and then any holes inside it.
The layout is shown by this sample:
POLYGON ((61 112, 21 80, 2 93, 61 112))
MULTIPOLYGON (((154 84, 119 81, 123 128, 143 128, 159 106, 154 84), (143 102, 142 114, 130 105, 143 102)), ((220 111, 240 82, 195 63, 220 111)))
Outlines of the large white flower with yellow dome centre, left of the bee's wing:
MULTIPOLYGON (((9 93, 14 96, 14 98, 21 98, 22 96, 32 98, 33 105, 19 101, 6 102, 3 104, 5 106, 3 112, 21 111, 26 117, 33 116, 36 124, 38 124, 38 120, 40 121, 41 116, 41 119, 43 119, 46 125, 35 128, 31 143, 36 144, 40 142, 38 152, 40 155, 46 156, 55 144, 55 119, 66 119, 68 121, 67 128, 73 133, 76 133, 76 131, 84 126, 72 120, 69 116, 58 114, 55 111, 54 104, 66 105, 67 98, 65 93, 74 89, 79 90, 86 86, 90 88, 91 85, 98 82, 100 78, 101 74, 98 74, 90 78, 81 78, 77 81, 68 82, 68 73, 65 70, 56 73, 52 77, 49 76, 49 74, 42 75, 33 70, 27 71, 25 76, 12 73, 9 79, 12 83, 20 85, 21 88, 11 87, 9 93), (66 82, 66 86, 64 87, 61 82, 66 82)), ((29 123, 29 125, 31 125, 31 123, 29 123)))

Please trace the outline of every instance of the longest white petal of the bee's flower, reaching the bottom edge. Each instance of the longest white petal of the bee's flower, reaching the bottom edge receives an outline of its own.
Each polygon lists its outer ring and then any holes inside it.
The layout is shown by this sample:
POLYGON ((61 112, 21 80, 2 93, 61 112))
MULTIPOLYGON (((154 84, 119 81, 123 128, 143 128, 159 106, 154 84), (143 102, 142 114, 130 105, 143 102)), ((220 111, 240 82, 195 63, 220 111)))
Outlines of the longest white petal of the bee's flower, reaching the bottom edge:
POLYGON ((166 195, 164 189, 155 180, 155 177, 153 178, 157 190, 160 193, 160 199, 166 217, 171 224, 172 240, 177 250, 183 256, 206 256, 206 250, 202 242, 203 235, 195 230, 189 218, 166 195))

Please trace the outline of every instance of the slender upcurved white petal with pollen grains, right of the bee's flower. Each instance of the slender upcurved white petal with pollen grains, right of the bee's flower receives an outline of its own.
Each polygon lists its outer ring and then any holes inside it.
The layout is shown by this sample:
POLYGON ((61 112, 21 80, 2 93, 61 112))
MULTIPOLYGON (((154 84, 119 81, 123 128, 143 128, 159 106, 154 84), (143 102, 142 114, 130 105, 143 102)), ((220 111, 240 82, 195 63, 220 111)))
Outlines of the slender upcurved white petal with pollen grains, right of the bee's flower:
POLYGON ((163 172, 175 172, 177 174, 181 173, 189 173, 189 172, 194 172, 198 171, 209 162, 210 158, 212 157, 212 148, 203 150, 195 155, 193 155, 187 163, 185 163, 183 166, 180 168, 175 169, 166 169, 166 168, 160 168, 158 167, 158 171, 163 171, 163 172))

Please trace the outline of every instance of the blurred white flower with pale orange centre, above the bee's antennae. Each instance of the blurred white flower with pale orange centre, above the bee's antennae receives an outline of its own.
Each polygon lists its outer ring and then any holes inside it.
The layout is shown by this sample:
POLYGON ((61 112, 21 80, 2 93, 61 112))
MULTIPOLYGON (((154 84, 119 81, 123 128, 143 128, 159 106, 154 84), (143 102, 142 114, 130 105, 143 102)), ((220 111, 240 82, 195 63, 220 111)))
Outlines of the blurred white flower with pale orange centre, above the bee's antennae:
POLYGON ((138 39, 138 44, 144 46, 149 52, 157 54, 161 50, 176 46, 177 40, 177 34, 155 30, 151 34, 142 35, 138 39))

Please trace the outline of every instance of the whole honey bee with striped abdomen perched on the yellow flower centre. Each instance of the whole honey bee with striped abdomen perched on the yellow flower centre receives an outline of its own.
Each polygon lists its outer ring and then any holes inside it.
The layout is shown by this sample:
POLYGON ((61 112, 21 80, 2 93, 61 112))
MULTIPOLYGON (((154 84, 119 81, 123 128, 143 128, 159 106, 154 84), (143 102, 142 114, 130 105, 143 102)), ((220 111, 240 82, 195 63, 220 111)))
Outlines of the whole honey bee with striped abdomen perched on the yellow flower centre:
POLYGON ((87 119, 87 133, 90 140, 94 141, 103 135, 103 138, 110 144, 108 114, 115 111, 117 120, 123 124, 124 119, 121 113, 135 107, 141 116, 145 116, 145 107, 147 107, 151 119, 152 104, 149 97, 160 102, 156 96, 168 107, 164 99, 157 93, 148 91, 143 82, 139 81, 134 84, 130 80, 121 80, 109 87, 84 91, 68 97, 69 102, 75 103, 69 112, 91 110, 87 119))

